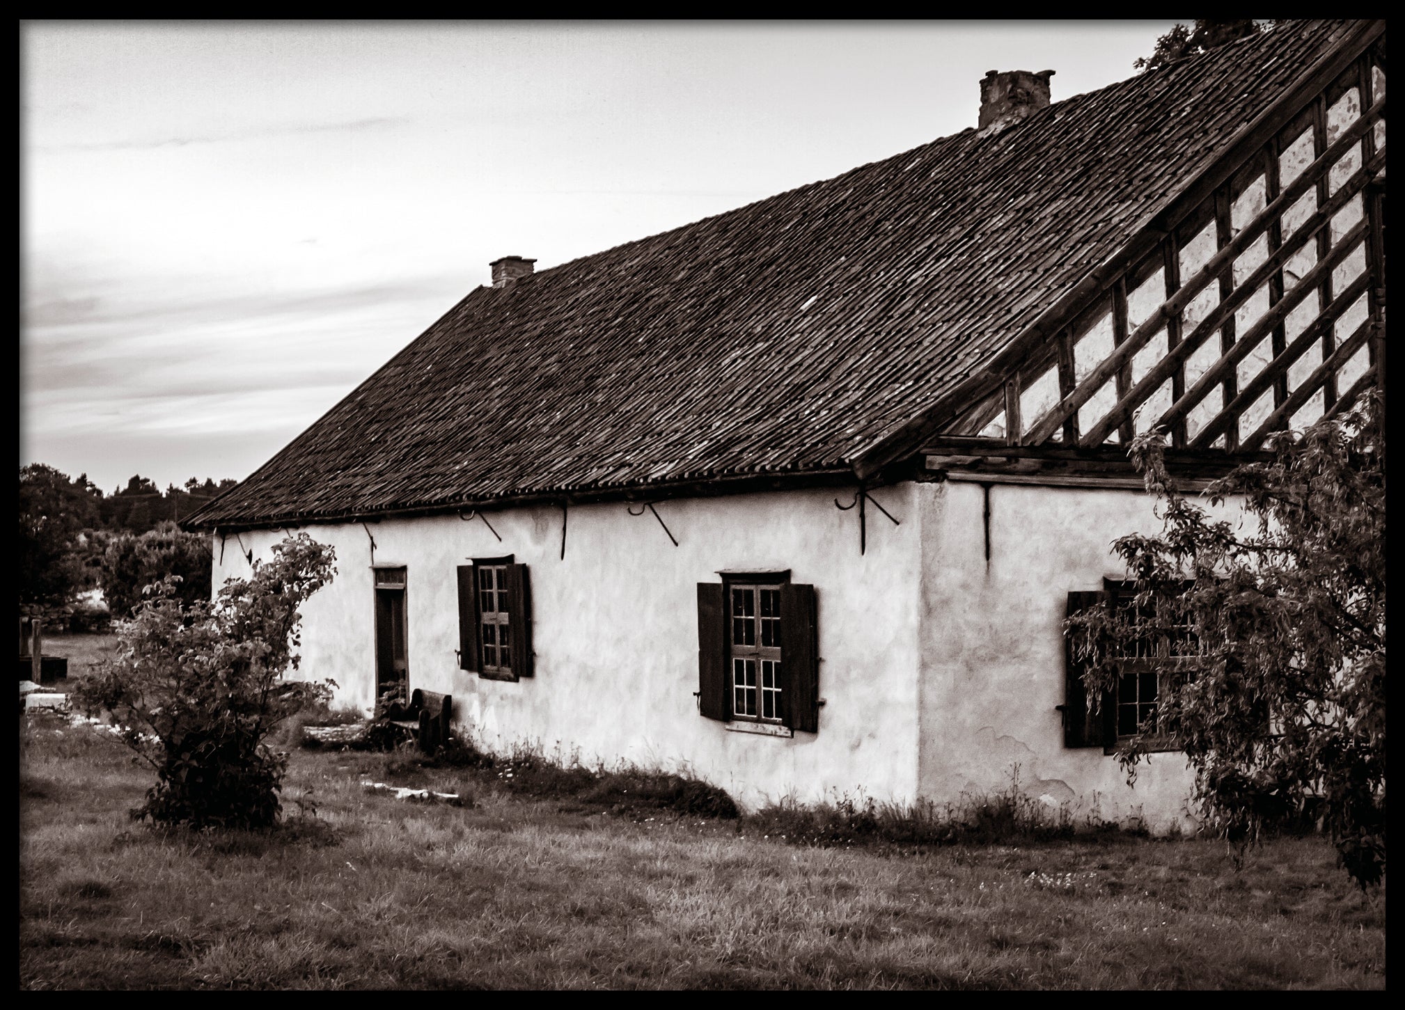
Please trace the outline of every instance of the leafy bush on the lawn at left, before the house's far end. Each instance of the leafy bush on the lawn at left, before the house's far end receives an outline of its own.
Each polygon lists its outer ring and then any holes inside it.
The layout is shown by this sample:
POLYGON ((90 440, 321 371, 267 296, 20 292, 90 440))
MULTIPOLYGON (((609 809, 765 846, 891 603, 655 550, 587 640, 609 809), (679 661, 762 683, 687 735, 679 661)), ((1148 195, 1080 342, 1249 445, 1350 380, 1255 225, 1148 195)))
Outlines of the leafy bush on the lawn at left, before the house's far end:
POLYGON ((121 629, 117 657, 72 694, 86 711, 111 714, 156 770, 133 816, 192 827, 277 820, 288 757, 266 737, 334 687, 282 680, 298 669, 298 608, 332 580, 334 560, 330 546, 296 534, 214 601, 183 604, 174 579, 152 587, 121 629))

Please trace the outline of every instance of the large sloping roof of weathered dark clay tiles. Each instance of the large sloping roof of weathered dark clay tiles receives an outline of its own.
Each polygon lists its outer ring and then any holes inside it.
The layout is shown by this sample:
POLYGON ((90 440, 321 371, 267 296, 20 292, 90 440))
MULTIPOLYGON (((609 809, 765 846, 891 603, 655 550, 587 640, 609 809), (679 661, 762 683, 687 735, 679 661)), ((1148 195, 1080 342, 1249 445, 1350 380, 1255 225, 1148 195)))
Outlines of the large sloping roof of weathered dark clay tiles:
POLYGON ((478 288, 188 525, 847 468, 1127 243, 1342 31, 1280 24, 993 136, 478 288))

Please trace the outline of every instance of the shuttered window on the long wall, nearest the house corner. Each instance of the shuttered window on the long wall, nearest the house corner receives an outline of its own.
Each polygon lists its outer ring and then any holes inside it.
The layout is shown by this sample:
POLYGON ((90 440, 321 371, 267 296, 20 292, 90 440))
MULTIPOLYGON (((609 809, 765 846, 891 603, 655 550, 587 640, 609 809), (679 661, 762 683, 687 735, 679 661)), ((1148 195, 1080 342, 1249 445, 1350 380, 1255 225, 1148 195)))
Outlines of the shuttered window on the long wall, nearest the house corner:
POLYGON ((819 729, 815 589, 788 572, 698 584, 698 711, 819 729))

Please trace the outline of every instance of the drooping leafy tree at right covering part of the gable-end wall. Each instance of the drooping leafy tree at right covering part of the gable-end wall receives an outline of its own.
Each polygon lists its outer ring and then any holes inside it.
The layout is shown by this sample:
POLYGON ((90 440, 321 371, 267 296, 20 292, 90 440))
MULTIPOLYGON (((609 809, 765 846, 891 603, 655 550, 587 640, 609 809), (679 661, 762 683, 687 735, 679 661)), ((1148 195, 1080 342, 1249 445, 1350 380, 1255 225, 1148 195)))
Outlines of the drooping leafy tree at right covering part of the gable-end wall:
MULTIPOLYGON (((1135 579, 1131 607, 1066 622, 1090 698, 1117 687, 1117 643, 1151 642, 1175 669, 1180 687, 1158 700, 1159 718, 1176 726, 1224 837, 1243 844, 1269 825, 1321 818, 1361 886, 1385 872, 1383 419, 1373 392, 1211 485, 1217 506, 1242 496, 1239 524, 1180 494, 1161 437, 1139 438, 1132 458, 1165 528, 1113 545, 1135 579), (1198 641, 1177 649, 1186 627, 1198 641)), ((1131 777, 1146 745, 1120 750, 1131 777)))

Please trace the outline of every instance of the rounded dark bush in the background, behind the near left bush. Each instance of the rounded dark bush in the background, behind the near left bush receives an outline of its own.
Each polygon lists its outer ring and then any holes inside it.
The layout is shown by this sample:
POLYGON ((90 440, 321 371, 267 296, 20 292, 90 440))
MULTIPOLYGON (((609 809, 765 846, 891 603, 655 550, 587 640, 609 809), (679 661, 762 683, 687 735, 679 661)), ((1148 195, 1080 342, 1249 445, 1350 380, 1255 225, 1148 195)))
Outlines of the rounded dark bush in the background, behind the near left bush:
POLYGON ((140 535, 124 532, 108 538, 100 577, 114 617, 128 617, 142 601, 142 589, 169 576, 180 579, 177 593, 187 608, 209 600, 209 539, 204 534, 162 523, 140 535))

